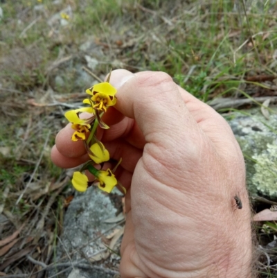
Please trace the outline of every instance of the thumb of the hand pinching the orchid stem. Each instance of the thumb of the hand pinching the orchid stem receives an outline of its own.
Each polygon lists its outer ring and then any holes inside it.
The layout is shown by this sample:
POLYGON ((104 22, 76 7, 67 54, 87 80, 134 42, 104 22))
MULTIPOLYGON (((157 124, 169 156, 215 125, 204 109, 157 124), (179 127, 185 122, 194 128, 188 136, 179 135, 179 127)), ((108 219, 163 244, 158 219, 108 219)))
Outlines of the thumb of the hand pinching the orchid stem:
POLYGON ((118 89, 116 109, 136 120, 148 143, 167 150, 181 150, 187 146, 186 151, 193 153, 199 148, 195 143, 202 132, 167 73, 134 74, 118 69, 112 71, 110 82, 118 89))

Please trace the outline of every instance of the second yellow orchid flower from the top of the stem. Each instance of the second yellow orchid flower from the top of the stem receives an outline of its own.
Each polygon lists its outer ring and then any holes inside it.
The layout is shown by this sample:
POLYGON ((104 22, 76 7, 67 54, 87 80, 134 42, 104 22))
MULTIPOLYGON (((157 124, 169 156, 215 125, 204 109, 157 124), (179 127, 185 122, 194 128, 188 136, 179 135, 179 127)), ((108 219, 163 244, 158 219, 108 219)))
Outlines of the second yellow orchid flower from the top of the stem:
POLYGON ((71 137, 72 141, 86 139, 86 133, 89 132, 89 128, 91 128, 90 122, 92 121, 93 117, 82 120, 79 118, 78 113, 91 111, 93 111, 92 107, 84 107, 76 110, 70 110, 64 114, 66 119, 72 123, 71 128, 76 130, 71 137))

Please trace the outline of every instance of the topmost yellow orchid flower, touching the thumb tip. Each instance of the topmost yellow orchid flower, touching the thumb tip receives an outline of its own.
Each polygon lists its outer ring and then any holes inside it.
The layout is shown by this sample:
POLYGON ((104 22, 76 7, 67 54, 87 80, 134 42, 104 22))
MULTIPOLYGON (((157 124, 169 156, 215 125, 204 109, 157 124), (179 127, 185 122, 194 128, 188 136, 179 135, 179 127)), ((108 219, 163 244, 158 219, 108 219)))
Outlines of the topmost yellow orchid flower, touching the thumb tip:
POLYGON ((91 101, 93 101, 93 108, 103 112, 107 111, 107 107, 116 104, 116 88, 109 82, 102 82, 94 85, 86 90, 87 94, 91 95, 91 101))

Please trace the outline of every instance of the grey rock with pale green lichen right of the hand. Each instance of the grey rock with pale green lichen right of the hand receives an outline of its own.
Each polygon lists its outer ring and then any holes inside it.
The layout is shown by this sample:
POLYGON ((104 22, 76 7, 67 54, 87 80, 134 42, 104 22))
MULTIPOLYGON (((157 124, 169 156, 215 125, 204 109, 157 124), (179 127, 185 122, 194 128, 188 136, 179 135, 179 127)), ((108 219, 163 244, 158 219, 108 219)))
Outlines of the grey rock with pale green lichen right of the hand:
POLYGON ((277 109, 265 119, 260 109, 235 112, 227 121, 244 153, 252 196, 277 198, 277 109))

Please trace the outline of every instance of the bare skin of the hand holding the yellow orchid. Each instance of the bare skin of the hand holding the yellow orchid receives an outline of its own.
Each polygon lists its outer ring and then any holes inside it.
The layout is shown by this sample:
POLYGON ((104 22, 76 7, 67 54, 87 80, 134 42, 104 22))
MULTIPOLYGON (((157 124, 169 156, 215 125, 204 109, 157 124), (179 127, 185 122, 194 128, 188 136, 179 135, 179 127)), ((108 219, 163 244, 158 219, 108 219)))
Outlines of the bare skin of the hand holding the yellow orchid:
MULTIPOLYGON (((253 277, 244 159, 228 123, 166 73, 119 69, 110 82, 118 100, 98 137, 111 158, 123 159, 121 277, 253 277)), ((69 124, 53 146, 62 168, 88 160, 72 134, 69 124)))

